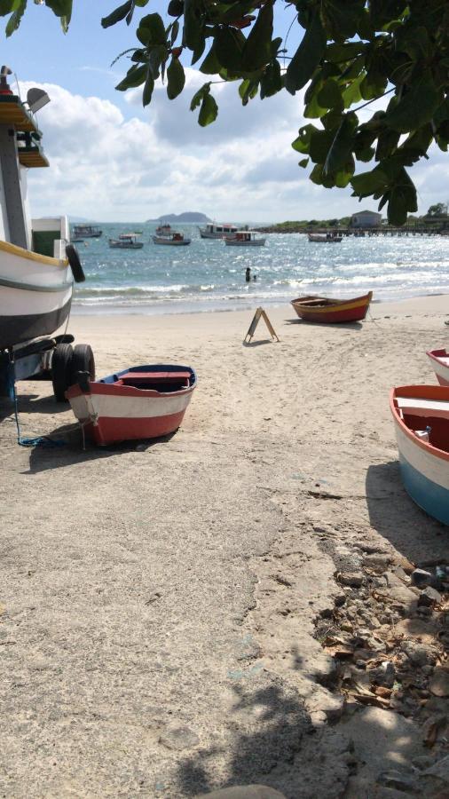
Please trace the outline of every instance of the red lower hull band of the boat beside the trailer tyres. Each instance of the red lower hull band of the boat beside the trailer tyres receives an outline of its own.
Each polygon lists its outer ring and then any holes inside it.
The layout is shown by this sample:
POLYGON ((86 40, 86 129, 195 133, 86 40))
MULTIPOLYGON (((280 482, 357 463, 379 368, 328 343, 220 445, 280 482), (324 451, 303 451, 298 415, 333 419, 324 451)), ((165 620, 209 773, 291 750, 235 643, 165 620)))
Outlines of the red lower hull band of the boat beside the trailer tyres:
POLYGON ((184 415, 185 410, 177 414, 138 419, 100 416, 97 424, 86 424, 85 431, 96 444, 100 445, 131 439, 158 439, 176 431, 184 415))

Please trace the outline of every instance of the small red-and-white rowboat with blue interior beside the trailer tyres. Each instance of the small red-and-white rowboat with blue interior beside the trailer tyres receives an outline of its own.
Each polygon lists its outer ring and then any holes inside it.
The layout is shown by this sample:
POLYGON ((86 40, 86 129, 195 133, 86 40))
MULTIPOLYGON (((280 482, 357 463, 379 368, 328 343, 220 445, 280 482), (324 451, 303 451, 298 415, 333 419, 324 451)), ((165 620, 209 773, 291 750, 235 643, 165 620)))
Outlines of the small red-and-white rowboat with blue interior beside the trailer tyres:
POLYGON ((123 369, 102 380, 79 372, 66 397, 86 434, 105 445, 176 431, 196 384, 193 368, 158 363, 123 369))

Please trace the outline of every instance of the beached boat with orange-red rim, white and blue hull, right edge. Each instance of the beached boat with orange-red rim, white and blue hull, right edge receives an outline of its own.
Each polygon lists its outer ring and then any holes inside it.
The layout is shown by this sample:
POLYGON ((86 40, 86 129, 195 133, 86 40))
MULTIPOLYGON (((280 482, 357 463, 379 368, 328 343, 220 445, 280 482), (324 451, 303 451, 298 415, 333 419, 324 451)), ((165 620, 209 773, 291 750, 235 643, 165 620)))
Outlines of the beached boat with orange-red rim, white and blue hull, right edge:
POLYGON ((449 388, 400 386, 390 393, 390 410, 407 494, 449 525, 449 388))

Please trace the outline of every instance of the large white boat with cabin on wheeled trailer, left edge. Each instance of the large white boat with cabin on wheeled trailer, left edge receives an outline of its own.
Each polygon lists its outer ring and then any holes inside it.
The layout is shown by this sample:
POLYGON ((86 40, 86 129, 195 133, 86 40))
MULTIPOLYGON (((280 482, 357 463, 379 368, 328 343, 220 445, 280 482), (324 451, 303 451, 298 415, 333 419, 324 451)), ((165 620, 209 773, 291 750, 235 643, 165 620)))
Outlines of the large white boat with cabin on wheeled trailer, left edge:
POLYGON ((73 368, 94 371, 90 347, 80 344, 75 352, 73 336, 54 335, 67 322, 74 279, 84 280, 83 267, 69 243, 67 217, 29 217, 27 170, 49 165, 34 111, 50 99, 30 89, 24 105, 8 75, 12 70, 1 67, 0 393, 8 381, 50 371, 55 396, 64 399, 73 368))

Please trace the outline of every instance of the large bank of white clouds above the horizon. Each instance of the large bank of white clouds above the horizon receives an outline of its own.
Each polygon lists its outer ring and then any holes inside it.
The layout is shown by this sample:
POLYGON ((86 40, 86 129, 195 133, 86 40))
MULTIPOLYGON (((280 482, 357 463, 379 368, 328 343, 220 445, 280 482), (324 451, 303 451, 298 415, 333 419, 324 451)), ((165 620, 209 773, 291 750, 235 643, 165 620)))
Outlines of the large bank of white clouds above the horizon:
MULTIPOLYGON (((270 221, 354 210, 349 189, 314 186, 297 166, 290 143, 303 123, 300 99, 282 92, 242 108, 236 83, 217 84, 217 123, 201 129, 188 106, 204 75, 186 72, 188 89, 177 100, 170 102, 160 85, 144 110, 140 91, 131 91, 123 112, 109 100, 43 84, 51 103, 39 123, 51 169, 30 170, 33 213, 138 221, 201 210, 213 218, 270 221)), ((23 95, 29 85, 22 84, 23 95)), ((443 154, 434 157, 435 165, 432 158, 414 169, 423 210, 445 200, 448 167, 443 154)))

